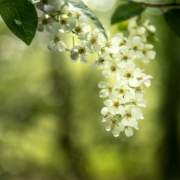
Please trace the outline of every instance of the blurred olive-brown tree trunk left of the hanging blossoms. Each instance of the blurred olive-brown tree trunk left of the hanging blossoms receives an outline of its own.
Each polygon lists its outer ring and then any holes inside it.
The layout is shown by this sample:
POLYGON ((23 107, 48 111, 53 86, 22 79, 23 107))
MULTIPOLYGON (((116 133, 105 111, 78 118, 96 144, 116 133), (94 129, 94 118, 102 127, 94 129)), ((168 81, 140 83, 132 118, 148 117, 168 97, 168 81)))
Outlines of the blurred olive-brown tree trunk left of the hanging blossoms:
MULTIPOLYGON (((62 101, 63 104, 56 108, 56 115, 59 119, 59 145, 65 156, 65 163, 68 164, 68 170, 65 172, 65 179, 89 180, 90 175, 87 172, 86 155, 83 147, 79 147, 74 138, 73 126, 73 82, 70 79, 70 71, 59 52, 54 53, 52 59, 52 79, 54 83, 54 96, 57 101, 62 101), (61 58, 60 58, 61 57, 61 58)), ((68 59, 69 60, 69 59, 68 59)), ((65 180, 64 179, 64 180, 65 180)))

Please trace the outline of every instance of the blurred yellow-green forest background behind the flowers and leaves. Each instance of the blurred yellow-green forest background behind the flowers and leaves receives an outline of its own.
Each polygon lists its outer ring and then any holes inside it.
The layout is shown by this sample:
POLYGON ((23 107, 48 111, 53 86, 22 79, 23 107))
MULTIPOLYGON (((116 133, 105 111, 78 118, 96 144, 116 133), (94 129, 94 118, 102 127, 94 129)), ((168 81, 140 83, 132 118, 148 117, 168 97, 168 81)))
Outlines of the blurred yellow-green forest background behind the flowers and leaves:
MULTIPOLYGON (((112 34, 122 29, 110 25, 115 1, 85 2, 112 34)), ((83 65, 48 51, 47 33, 28 47, 0 20, 0 180, 180 179, 180 39, 159 11, 142 18, 159 41, 156 59, 139 63, 153 79, 145 120, 130 138, 104 130, 93 58, 83 65)))

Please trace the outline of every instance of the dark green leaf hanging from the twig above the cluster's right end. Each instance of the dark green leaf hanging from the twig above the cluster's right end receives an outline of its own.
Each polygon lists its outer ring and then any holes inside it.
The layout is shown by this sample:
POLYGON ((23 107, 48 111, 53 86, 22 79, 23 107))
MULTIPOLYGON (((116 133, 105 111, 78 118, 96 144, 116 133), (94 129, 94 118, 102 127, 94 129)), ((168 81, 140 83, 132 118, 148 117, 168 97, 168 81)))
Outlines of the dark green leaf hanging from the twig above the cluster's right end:
POLYGON ((140 15, 145 10, 141 3, 127 2, 119 5, 111 17, 111 24, 128 20, 134 16, 140 15))

